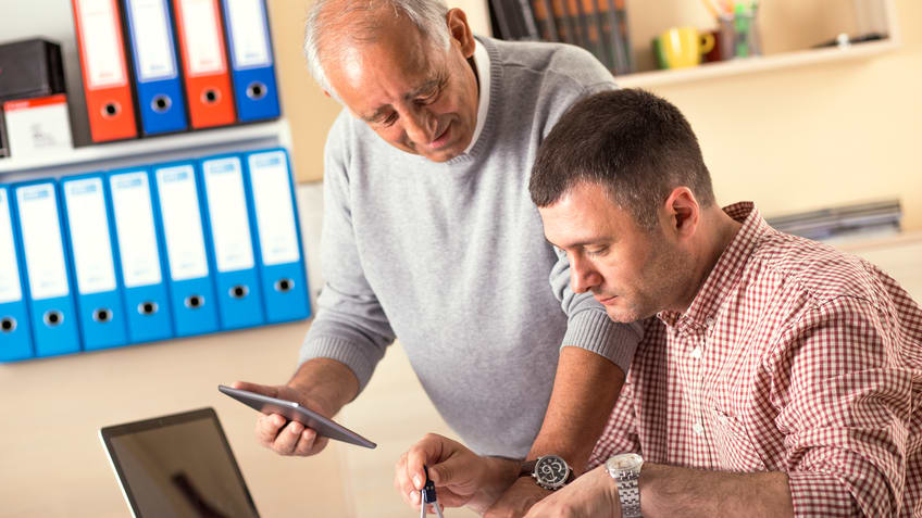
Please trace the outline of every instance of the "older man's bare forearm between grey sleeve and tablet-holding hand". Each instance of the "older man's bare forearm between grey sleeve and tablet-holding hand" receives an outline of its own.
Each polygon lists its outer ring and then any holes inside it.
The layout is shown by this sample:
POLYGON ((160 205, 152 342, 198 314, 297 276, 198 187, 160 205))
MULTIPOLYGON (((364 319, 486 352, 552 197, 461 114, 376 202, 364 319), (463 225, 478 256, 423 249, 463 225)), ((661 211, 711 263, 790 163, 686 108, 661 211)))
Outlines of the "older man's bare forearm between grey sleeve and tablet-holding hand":
POLYGON ((352 369, 332 358, 304 362, 288 381, 288 387, 310 397, 328 417, 359 394, 359 379, 352 369))

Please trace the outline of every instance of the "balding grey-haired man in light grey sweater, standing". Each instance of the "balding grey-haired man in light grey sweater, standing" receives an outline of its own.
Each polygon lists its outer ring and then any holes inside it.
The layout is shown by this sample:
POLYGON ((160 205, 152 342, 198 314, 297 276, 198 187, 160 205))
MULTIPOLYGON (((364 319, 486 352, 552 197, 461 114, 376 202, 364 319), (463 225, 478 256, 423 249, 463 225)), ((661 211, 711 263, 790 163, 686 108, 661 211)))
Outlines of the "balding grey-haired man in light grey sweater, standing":
MULTIPOLYGON (((581 472, 618 394, 595 387, 623 380, 639 326, 570 289, 527 185, 545 135, 611 75, 574 47, 475 38, 440 1, 320 0, 307 35, 314 77, 345 105, 325 154, 326 285, 291 380, 236 386, 332 416, 399 338, 474 450, 581 472)), ((277 415, 257 433, 279 454, 324 444, 277 415)), ((544 494, 523 481, 491 514, 544 494)))

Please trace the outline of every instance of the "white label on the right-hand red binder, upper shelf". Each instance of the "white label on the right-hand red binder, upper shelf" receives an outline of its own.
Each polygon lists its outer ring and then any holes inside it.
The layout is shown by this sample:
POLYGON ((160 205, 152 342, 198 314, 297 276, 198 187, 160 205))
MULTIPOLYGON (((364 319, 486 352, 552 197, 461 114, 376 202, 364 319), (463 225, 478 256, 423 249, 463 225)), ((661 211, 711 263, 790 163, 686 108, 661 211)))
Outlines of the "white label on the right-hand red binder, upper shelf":
POLYGON ((224 49, 217 33, 214 0, 182 0, 183 37, 189 59, 189 75, 224 73, 224 49))

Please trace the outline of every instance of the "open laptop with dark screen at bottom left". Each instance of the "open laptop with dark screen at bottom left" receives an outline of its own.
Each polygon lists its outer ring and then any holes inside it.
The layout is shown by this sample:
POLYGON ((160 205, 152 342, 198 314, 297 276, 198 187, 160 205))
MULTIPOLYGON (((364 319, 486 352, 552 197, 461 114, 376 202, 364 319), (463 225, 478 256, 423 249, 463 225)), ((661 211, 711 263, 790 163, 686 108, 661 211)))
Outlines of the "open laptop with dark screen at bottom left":
POLYGON ((99 437, 136 518, 259 518, 213 408, 105 427, 99 437))

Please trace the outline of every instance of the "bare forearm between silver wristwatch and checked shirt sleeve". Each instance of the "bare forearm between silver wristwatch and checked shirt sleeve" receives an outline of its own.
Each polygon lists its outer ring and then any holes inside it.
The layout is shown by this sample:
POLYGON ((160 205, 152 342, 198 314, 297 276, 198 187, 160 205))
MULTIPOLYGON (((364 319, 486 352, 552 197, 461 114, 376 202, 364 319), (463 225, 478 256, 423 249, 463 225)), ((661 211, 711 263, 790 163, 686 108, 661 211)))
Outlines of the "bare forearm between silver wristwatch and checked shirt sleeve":
POLYGON ((645 518, 794 516, 783 472, 730 473, 645 464, 639 483, 645 518))

